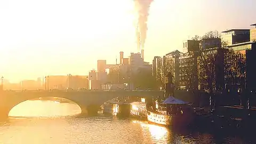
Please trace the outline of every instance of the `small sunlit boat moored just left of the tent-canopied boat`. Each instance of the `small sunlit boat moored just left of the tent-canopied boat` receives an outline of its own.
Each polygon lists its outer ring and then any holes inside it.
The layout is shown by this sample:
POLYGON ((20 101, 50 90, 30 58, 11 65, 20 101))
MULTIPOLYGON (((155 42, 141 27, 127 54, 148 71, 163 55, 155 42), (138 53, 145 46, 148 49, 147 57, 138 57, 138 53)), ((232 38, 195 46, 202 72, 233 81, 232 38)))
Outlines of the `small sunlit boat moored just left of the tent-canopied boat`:
POLYGON ((135 101, 131 103, 131 116, 135 118, 147 119, 147 103, 135 101))

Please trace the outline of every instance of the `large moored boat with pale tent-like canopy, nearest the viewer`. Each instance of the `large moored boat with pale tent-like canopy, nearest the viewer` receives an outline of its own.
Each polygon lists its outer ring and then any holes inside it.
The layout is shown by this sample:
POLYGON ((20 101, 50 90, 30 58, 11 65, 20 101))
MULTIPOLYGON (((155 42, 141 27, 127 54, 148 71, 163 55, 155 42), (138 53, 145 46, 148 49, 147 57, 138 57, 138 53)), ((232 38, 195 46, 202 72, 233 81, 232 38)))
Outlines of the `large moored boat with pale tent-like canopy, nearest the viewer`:
POLYGON ((188 102, 169 97, 162 103, 156 102, 147 109, 147 119, 150 123, 160 125, 186 126, 193 120, 193 110, 188 102))

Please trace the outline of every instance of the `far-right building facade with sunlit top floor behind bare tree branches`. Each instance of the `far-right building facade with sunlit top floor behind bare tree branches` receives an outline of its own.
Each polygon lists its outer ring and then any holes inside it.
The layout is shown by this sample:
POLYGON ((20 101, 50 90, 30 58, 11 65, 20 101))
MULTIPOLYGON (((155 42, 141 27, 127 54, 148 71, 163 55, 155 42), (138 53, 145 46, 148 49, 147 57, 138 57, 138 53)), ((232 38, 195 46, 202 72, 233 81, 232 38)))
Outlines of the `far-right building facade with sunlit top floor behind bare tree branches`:
MULTIPOLYGON (((247 52, 253 53, 254 51, 252 50, 256 49, 256 43, 233 44, 229 45, 228 49, 231 54, 225 55, 226 89, 241 92, 246 89, 247 81, 250 81, 250 78, 247 77, 247 74, 250 75, 250 68, 247 69, 247 62, 251 63, 253 58, 247 59, 247 52)), ((250 56, 253 57, 252 55, 250 56)))

